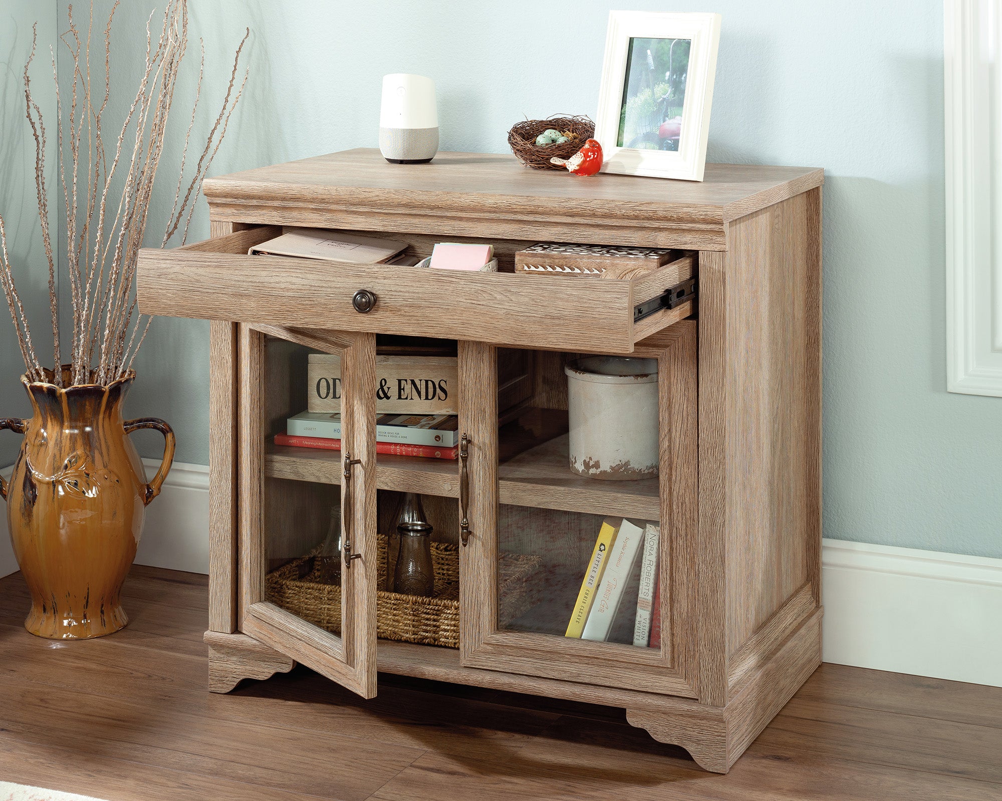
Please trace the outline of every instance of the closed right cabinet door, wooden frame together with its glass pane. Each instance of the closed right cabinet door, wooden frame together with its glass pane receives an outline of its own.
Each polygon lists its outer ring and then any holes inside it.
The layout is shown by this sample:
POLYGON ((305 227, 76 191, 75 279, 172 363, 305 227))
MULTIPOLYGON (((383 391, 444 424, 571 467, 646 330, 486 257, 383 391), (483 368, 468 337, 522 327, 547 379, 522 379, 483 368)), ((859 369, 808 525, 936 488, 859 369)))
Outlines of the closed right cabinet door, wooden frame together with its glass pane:
POLYGON ((628 357, 461 343, 465 665, 695 696, 694 334, 628 357), (531 396, 485 411, 513 359, 531 396))

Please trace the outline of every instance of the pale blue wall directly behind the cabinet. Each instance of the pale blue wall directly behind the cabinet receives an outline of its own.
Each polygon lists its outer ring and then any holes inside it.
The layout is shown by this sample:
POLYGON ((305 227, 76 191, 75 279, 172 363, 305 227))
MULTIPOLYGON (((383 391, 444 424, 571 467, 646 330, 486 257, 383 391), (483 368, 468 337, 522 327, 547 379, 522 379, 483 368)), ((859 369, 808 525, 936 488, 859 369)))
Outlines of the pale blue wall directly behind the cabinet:
MULTIPOLYGON (((149 3, 126 5, 122 84, 149 3)), ((944 388, 942 1, 630 7, 723 14, 710 160, 828 171, 825 534, 1002 557, 1002 400, 944 388)), ((192 0, 213 98, 239 31, 254 31, 250 83, 213 172, 374 146, 387 72, 435 78, 443 149, 504 152, 524 116, 594 115, 608 9, 192 0)), ((200 212, 192 235, 206 233, 200 212)), ((190 462, 207 459, 206 339, 204 323, 157 320, 130 404, 169 420, 190 462)))

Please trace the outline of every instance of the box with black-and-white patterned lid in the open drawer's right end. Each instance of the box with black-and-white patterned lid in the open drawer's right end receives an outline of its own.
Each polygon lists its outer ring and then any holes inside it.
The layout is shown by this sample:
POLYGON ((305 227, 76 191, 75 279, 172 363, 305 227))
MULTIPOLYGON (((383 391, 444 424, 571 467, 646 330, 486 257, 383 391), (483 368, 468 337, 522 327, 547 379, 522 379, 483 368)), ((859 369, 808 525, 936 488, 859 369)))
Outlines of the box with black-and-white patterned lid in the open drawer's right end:
POLYGON ((515 272, 577 275, 582 277, 627 277, 666 264, 677 254, 665 247, 567 244, 541 242, 515 253, 515 272))

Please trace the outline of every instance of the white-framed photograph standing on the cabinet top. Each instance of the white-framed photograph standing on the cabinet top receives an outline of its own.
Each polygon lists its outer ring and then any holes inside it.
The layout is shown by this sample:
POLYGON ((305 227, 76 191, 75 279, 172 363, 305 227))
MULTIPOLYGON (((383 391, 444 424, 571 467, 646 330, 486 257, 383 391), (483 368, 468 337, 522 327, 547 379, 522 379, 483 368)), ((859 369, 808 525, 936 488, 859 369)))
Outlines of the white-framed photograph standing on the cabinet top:
POLYGON ((610 11, 595 138, 603 172, 701 181, 719 14, 610 11))

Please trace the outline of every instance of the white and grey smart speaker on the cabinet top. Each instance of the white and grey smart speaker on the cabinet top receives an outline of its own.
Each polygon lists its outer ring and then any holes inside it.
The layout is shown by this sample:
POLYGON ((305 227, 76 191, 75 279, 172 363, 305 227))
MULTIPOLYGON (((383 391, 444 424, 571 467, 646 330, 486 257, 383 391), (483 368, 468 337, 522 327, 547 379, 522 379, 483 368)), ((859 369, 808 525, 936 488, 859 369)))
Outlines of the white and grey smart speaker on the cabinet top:
POLYGON ((384 76, 379 149, 394 164, 432 160, 438 152, 435 81, 402 72, 384 76))

